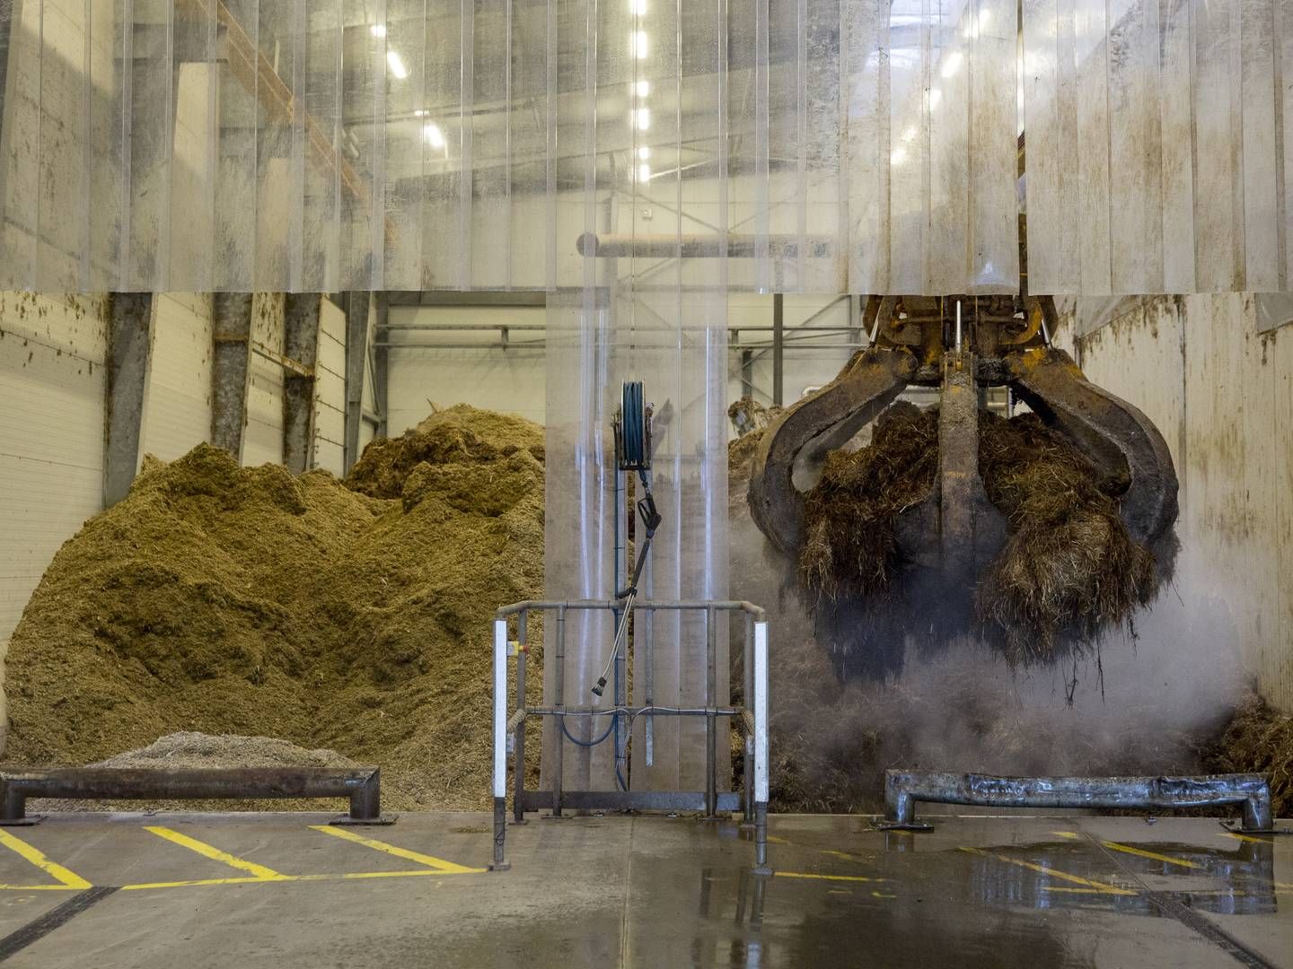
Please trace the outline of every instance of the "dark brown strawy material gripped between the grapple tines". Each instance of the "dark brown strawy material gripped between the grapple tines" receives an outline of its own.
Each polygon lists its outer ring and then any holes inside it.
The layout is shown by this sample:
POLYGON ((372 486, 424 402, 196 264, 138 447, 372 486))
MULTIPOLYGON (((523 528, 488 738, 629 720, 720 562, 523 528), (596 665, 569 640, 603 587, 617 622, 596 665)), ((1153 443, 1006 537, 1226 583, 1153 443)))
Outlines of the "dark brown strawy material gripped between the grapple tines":
MULTIPOLYGON (((877 614, 892 611, 891 593, 913 574, 900 516, 934 490, 937 421, 936 408, 895 404, 869 444, 828 455, 806 501, 799 557, 818 605, 847 603, 862 616, 873 601, 877 614)), ((1058 638, 1090 641, 1153 598, 1155 557, 1118 517, 1118 482, 1102 481, 1040 417, 980 412, 979 473, 1009 536, 975 593, 983 629, 965 632, 987 634, 1012 662, 1046 660, 1058 638)))

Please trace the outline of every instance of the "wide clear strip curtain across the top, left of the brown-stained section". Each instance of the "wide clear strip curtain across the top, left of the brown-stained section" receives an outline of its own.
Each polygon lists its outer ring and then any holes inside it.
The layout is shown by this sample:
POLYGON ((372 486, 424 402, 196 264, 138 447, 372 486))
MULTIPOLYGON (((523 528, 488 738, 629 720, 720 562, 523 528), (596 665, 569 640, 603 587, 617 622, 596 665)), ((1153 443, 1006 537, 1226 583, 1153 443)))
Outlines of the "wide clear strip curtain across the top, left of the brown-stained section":
MULTIPOLYGON (((582 286, 590 97, 595 181, 623 195, 646 167, 654 194, 676 171, 684 242, 710 234, 732 288, 1018 284, 1009 0, 4 0, 0 18, 0 286, 582 286), (721 50, 690 28, 711 13, 721 50), (661 90, 644 75, 666 54, 672 106, 634 87, 661 90), (720 118, 693 107, 715 85, 720 118), (723 127, 667 150, 698 118, 723 127), (661 154, 634 156, 632 125, 661 154)), ((597 231, 636 231, 641 255, 663 204, 597 231)))

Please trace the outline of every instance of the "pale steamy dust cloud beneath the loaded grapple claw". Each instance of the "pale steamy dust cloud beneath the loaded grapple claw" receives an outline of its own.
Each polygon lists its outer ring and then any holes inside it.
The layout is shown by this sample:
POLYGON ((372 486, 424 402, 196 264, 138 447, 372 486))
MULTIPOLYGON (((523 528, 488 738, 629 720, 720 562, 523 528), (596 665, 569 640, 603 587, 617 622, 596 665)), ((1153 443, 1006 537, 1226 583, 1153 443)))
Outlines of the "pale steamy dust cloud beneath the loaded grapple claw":
POLYGON ((733 593, 769 618, 777 810, 879 810, 887 767, 1197 771, 1202 745, 1244 693, 1224 589, 1204 580, 1188 545, 1173 581, 1129 625, 1028 667, 972 638, 931 637, 944 605, 936 596, 896 606, 908 630, 870 637, 878 655, 860 663, 848 655, 857 637, 840 642, 838 616, 815 623, 794 571, 733 508, 733 593))

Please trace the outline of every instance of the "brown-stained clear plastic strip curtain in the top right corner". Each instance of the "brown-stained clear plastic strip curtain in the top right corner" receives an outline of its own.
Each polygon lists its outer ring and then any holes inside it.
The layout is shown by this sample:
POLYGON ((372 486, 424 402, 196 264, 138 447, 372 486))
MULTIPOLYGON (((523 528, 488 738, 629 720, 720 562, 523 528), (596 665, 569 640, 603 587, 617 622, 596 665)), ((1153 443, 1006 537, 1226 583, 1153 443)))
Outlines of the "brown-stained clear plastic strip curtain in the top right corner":
POLYGON ((1024 0, 1028 283, 1287 291, 1284 0, 1024 0))

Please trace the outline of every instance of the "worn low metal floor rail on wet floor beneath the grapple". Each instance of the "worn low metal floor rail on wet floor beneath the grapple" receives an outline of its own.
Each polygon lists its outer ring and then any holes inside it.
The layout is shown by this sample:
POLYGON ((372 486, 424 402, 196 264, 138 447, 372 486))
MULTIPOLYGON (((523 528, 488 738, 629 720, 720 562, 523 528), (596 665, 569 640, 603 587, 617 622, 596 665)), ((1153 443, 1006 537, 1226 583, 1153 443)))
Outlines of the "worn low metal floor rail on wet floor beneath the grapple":
POLYGON ((1152 809, 1243 805, 1245 832, 1275 829, 1271 788, 1261 774, 1121 778, 998 778, 990 774, 884 771, 886 827, 923 831, 915 802, 976 808, 1152 809))

